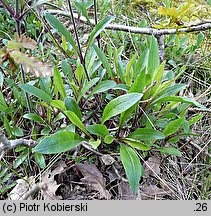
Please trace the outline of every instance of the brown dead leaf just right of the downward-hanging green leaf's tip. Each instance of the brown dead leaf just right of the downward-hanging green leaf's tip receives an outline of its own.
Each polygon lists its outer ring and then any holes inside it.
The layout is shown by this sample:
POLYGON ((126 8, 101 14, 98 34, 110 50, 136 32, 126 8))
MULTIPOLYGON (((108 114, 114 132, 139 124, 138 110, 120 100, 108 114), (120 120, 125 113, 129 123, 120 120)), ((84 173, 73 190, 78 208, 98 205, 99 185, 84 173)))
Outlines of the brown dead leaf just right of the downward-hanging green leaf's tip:
POLYGON ((148 177, 149 175, 155 176, 156 174, 160 174, 160 159, 157 156, 150 157, 146 163, 144 164, 144 177, 148 177), (151 169, 150 169, 151 168, 151 169))

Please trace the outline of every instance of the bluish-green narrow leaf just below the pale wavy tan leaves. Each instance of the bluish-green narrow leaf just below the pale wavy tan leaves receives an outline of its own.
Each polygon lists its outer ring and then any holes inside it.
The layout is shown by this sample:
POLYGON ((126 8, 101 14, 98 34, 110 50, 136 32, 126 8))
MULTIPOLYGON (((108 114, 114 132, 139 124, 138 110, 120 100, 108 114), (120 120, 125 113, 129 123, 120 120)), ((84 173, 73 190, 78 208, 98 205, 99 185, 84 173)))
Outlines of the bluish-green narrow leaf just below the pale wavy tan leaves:
POLYGON ((29 84, 21 84, 20 87, 27 93, 40 98, 41 100, 45 101, 48 104, 50 104, 50 102, 52 101, 51 97, 48 94, 46 94, 43 90, 35 86, 29 85, 29 84))

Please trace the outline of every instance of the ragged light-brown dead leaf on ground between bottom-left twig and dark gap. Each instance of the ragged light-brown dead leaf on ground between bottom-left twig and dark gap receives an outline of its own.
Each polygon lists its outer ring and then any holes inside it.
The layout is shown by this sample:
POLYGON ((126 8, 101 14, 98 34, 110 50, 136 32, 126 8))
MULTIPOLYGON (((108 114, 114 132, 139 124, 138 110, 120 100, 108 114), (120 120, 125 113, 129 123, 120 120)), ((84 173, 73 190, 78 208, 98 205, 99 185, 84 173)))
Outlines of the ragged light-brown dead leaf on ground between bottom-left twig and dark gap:
POLYGON ((54 179, 55 175, 60 174, 65 171, 67 165, 61 161, 58 165, 51 171, 46 172, 42 177, 42 183, 46 184, 45 190, 42 190, 42 196, 44 200, 60 200, 61 196, 56 195, 56 191, 60 184, 57 184, 54 179))

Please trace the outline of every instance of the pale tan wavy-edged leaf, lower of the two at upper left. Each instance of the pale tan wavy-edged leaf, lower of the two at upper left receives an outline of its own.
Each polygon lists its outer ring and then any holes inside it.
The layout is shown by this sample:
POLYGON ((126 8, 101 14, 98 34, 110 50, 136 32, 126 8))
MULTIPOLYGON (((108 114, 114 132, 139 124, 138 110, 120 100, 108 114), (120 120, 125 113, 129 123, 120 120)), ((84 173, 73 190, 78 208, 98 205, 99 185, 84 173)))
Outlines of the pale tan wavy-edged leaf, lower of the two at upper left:
POLYGON ((37 77, 53 75, 52 66, 48 63, 42 62, 36 57, 28 56, 16 50, 11 51, 10 56, 16 63, 22 64, 23 70, 26 73, 31 72, 37 77))

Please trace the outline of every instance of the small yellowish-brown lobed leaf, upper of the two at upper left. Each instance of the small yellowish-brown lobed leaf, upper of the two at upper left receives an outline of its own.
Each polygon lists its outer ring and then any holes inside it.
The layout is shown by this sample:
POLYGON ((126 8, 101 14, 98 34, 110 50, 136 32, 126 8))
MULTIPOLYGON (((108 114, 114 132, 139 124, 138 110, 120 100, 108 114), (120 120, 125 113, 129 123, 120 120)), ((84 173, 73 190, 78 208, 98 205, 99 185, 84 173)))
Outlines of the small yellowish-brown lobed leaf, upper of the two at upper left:
POLYGON ((36 49, 37 42, 25 35, 19 37, 18 34, 15 33, 15 40, 8 41, 8 48, 15 50, 19 50, 20 48, 36 49))

